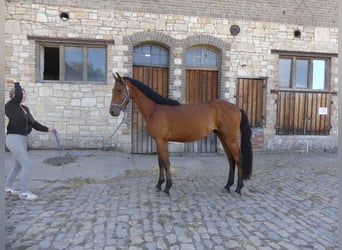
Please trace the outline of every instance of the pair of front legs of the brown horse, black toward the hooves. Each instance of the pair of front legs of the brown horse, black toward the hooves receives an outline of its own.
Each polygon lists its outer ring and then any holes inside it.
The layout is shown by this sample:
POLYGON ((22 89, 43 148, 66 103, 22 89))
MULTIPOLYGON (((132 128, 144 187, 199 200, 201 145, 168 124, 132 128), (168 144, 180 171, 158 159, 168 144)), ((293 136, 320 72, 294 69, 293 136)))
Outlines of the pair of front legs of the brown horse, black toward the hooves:
POLYGON ((167 141, 156 140, 157 152, 158 152, 158 163, 159 163, 159 180, 157 189, 161 190, 161 185, 164 182, 164 172, 166 176, 166 185, 164 193, 170 194, 169 190, 172 186, 171 173, 170 173, 170 160, 167 141))

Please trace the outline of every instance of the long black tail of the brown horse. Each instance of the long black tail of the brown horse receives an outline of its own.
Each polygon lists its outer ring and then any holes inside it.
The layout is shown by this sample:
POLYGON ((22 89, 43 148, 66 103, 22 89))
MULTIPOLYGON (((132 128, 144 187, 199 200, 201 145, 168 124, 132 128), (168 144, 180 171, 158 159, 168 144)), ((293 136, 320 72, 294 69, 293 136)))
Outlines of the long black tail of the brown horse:
POLYGON ((241 133, 241 161, 243 169, 243 179, 248 180, 252 176, 253 167, 253 152, 251 136, 252 130, 249 125, 248 117, 246 112, 242 109, 241 111, 241 123, 240 123, 240 133, 241 133))

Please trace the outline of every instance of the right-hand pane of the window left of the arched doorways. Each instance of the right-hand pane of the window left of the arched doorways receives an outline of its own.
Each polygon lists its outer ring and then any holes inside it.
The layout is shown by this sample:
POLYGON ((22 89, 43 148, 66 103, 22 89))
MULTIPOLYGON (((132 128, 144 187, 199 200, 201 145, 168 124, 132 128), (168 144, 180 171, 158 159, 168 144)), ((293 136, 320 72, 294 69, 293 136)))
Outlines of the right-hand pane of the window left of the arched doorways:
POLYGON ((104 82, 106 72, 106 50, 88 48, 88 81, 104 82))

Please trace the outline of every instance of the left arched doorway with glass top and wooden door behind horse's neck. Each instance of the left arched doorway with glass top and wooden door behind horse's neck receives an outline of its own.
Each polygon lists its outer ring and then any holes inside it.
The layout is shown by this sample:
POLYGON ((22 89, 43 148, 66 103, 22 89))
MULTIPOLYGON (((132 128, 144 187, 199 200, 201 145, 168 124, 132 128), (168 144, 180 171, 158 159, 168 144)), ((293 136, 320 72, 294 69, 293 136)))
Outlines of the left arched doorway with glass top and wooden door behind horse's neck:
MULTIPOLYGON (((168 96, 169 50, 153 43, 133 49, 133 78, 168 96)), ((154 140, 148 135, 146 122, 135 103, 132 105, 132 153, 156 153, 154 140)))

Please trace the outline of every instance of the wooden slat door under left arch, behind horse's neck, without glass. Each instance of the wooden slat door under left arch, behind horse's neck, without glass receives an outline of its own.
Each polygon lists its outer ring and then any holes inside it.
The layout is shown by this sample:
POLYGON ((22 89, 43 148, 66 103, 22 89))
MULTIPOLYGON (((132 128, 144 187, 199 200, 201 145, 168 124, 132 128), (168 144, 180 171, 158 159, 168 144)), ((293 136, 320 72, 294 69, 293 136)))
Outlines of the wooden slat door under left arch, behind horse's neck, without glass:
MULTIPOLYGON (((133 78, 142 81, 147 86, 168 96, 168 69, 148 66, 134 66, 133 78)), ((146 122, 135 103, 132 105, 132 153, 156 153, 154 140, 147 133, 146 122)))

